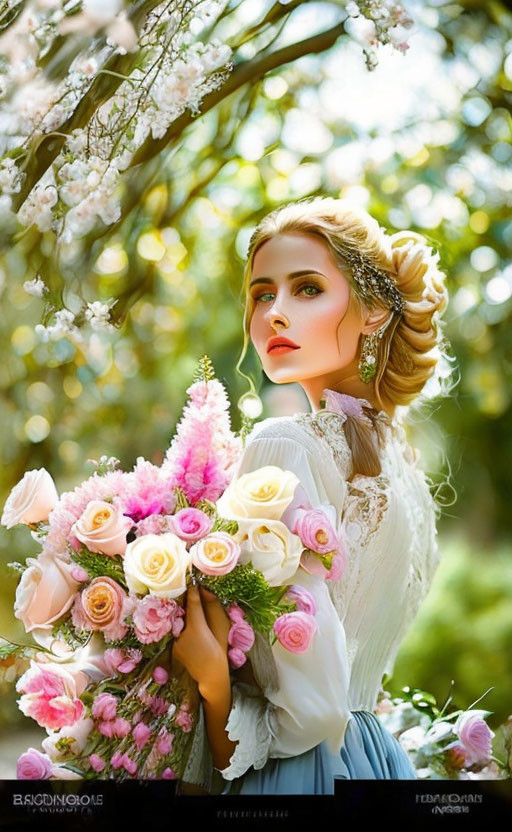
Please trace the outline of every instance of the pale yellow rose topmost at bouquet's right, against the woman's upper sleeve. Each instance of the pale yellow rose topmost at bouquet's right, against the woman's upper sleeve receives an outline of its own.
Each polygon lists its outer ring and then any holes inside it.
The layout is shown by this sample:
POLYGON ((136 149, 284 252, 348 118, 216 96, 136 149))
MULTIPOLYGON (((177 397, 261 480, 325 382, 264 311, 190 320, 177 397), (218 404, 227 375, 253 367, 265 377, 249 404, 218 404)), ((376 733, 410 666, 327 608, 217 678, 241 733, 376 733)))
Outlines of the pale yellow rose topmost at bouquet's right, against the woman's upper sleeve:
POLYGON ((217 510, 229 520, 244 517, 280 520, 299 482, 292 471, 266 465, 233 480, 217 500, 217 510))

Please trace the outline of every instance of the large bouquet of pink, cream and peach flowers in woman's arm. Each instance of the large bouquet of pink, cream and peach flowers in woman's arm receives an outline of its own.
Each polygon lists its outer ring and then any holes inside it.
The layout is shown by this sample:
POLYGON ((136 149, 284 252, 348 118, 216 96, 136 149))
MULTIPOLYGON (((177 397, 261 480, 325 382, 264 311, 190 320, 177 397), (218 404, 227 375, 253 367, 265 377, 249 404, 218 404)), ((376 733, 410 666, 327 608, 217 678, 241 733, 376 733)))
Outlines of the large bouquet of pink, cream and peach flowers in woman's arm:
POLYGON ((187 393, 160 467, 138 457, 124 472, 102 457, 60 497, 44 468, 28 471, 7 499, 2 524, 28 525, 42 545, 10 564, 15 616, 36 644, 0 646, 19 708, 48 733, 19 778, 181 778, 200 697, 172 644, 191 582, 225 606, 234 668, 256 632, 293 652, 314 638, 314 599, 293 576, 341 574, 334 507, 313 509, 277 466, 233 479, 242 439, 206 356, 187 393))

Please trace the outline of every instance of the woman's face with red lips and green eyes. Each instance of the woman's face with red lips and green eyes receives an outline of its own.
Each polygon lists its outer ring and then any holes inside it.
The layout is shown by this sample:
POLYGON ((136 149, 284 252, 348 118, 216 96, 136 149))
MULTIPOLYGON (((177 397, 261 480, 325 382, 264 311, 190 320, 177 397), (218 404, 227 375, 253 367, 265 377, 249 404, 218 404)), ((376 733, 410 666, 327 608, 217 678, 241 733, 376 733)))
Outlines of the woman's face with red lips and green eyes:
POLYGON ((303 387, 318 399, 315 394, 331 383, 357 379, 364 322, 348 279, 323 240, 302 232, 267 240, 254 256, 249 292, 254 299, 250 336, 271 381, 316 379, 303 387), (297 348, 269 351, 275 336, 297 348))

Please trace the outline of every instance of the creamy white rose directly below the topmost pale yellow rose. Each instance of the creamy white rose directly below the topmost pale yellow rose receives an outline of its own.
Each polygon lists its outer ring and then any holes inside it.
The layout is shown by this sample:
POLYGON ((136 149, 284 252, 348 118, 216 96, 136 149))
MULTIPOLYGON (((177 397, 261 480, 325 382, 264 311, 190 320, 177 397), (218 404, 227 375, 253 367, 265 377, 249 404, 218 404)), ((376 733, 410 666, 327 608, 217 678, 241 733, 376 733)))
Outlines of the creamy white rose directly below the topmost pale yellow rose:
POLYGON ((280 520, 240 520, 234 535, 240 544, 240 563, 251 562, 270 586, 280 586, 300 566, 304 544, 280 520))

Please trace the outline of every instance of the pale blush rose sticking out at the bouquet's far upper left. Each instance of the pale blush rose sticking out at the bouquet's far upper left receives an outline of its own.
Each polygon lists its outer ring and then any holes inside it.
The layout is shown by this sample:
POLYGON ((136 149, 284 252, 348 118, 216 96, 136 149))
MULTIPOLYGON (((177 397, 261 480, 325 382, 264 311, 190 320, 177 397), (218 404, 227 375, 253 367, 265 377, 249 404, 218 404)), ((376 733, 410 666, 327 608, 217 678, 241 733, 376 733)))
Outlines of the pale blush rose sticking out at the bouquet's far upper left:
POLYGON ((40 523, 48 519, 58 502, 55 483, 46 468, 27 471, 9 494, 0 523, 8 529, 18 523, 40 523))

